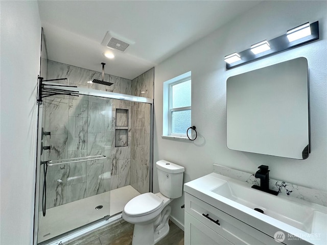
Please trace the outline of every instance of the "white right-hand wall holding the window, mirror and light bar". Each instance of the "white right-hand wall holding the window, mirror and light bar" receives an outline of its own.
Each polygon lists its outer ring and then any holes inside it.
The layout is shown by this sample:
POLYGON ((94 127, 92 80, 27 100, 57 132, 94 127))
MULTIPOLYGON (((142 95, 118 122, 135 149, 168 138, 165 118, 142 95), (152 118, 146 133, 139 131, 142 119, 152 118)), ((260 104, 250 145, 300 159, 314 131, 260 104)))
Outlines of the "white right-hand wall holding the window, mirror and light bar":
MULTIPOLYGON (((270 177, 327 191, 326 157, 326 14, 325 1, 263 1, 214 33, 155 67, 154 162, 165 159, 185 167, 184 182, 212 173, 213 163, 255 173, 269 165, 270 177), (283 35, 307 21, 319 21, 320 39, 310 44, 226 71, 224 56, 251 44, 283 35), (228 150, 226 147, 226 80, 228 77, 297 57, 309 64, 312 151, 293 160, 228 150), (192 70, 192 125, 195 141, 161 138, 162 83, 192 70)), ((154 168, 154 191, 158 191, 154 168)), ((183 197, 173 202, 172 216, 184 222, 183 197)))

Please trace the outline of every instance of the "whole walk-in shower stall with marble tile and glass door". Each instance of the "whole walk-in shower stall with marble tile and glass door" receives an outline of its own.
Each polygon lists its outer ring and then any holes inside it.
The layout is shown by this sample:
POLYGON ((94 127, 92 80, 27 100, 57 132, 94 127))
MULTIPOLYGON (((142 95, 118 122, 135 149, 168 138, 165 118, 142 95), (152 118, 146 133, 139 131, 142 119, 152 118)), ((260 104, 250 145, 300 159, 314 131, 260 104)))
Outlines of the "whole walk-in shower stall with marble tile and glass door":
POLYGON ((153 68, 133 81, 106 74, 110 88, 87 84, 99 72, 47 66, 51 81, 39 78, 35 244, 119 218, 129 200, 152 191, 153 99, 118 87, 141 93, 153 68))

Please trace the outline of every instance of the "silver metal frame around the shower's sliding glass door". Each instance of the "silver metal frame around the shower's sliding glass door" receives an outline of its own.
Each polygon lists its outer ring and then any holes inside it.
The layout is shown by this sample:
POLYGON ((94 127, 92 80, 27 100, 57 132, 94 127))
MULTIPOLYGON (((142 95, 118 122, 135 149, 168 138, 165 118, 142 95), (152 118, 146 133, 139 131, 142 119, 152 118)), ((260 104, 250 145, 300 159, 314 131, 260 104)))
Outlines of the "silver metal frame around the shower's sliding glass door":
MULTIPOLYGON (((53 88, 63 89, 62 84, 58 83, 51 83, 51 82, 43 82, 43 85, 51 85, 53 88), (56 87, 58 86, 58 87, 56 87)), ((146 103, 150 105, 150 169, 149 169, 149 191, 152 192, 153 190, 153 125, 154 125, 154 118, 153 118, 153 99, 146 98, 146 97, 139 97, 129 94, 122 94, 122 93, 114 93, 114 92, 107 92, 102 90, 90 89, 90 88, 83 88, 83 87, 69 87, 67 90, 75 91, 81 95, 90 95, 96 97, 104 97, 107 99, 116 99, 116 100, 124 100, 130 102, 137 102, 137 103, 146 103)), ((42 113, 43 113, 43 105, 42 102, 38 104, 38 125, 37 125, 37 156, 36 156, 36 183, 35 183, 35 200, 34 200, 34 231, 33 231, 33 245, 37 245, 37 235, 38 235, 38 222, 39 222, 39 201, 40 201, 40 168, 41 168, 41 136, 42 136, 42 113)), ((100 220, 101 222, 108 217, 104 217, 100 220)), ((94 223, 94 222, 92 222, 94 223)), ((88 224, 87 224, 88 225, 88 224)), ((85 226, 87 226, 85 225, 85 226)), ((83 227, 85 227, 83 226, 83 227)), ((76 228, 75 230, 81 229, 81 227, 76 228)), ((70 231, 67 231, 64 234, 67 234, 70 231)))

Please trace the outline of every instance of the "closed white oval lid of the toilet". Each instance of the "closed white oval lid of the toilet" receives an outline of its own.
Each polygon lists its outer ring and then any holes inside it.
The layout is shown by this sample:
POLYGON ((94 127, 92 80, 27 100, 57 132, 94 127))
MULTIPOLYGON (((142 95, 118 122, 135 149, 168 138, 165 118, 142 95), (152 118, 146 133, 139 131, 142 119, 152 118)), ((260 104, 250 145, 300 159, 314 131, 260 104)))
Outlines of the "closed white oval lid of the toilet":
POLYGON ((130 216, 152 213, 162 206, 162 202, 163 200, 152 192, 144 193, 129 201, 124 208, 124 212, 130 216))

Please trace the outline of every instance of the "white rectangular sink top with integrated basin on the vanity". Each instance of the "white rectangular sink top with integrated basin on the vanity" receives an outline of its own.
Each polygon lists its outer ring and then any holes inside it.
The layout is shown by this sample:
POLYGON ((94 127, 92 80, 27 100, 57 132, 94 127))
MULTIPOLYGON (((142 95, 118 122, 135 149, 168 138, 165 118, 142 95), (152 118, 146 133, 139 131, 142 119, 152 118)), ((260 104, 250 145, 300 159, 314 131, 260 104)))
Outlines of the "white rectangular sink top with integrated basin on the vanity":
POLYGON ((272 195, 251 186, 212 173, 185 183, 184 191, 222 211, 225 207, 226 210, 232 210, 228 214, 258 230, 262 231, 261 228, 265 227, 264 232, 272 237, 276 231, 283 231, 300 237, 308 242, 306 244, 327 244, 327 207, 283 195, 272 195), (264 213, 254 211, 255 208, 264 213))

